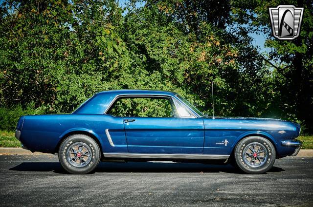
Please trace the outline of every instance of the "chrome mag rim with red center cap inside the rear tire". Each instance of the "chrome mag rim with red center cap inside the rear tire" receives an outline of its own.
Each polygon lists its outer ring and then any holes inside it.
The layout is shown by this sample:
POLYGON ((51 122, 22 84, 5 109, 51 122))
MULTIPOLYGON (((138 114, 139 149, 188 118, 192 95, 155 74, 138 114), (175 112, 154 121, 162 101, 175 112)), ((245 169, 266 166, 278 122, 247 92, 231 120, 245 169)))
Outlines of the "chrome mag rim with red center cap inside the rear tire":
POLYGON ((67 162, 72 166, 82 168, 91 160, 91 149, 83 142, 75 142, 67 148, 67 162))

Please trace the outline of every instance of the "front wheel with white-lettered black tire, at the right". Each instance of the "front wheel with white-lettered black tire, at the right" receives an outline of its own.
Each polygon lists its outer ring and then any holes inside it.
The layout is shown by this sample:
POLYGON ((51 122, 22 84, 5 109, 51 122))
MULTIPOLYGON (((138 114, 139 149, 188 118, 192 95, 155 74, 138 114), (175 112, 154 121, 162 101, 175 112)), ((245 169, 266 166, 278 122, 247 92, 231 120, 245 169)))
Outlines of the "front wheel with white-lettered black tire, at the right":
POLYGON ((249 174, 262 174, 273 166, 276 151, 268 139, 249 136, 238 142, 234 150, 234 158, 237 166, 243 171, 249 174), (264 152, 257 153, 257 151, 264 152))

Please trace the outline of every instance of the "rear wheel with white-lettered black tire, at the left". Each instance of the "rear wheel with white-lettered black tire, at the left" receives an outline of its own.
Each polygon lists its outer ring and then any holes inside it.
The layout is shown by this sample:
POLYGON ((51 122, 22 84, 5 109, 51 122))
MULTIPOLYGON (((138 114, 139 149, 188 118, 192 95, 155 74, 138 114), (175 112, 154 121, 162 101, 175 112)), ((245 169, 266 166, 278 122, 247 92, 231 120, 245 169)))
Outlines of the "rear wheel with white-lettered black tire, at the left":
POLYGON ((91 137, 74 134, 62 142, 59 148, 59 161, 71 174, 87 174, 98 166, 100 153, 98 144, 91 137))

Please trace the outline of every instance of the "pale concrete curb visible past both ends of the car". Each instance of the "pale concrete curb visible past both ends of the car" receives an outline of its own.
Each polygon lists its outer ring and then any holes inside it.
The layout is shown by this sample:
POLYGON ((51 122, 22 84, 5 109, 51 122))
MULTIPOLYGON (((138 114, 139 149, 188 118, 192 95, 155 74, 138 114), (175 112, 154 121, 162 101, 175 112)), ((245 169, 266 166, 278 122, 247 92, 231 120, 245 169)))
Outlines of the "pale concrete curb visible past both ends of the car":
MULTIPOLYGON (((47 153, 42 153, 42 152, 32 153, 31 151, 25 150, 22 148, 0 148, 0 155, 12 155, 12 154, 40 155, 40 154, 47 154, 47 153)), ((313 156, 313 150, 300 150, 297 156, 299 157, 313 156)))

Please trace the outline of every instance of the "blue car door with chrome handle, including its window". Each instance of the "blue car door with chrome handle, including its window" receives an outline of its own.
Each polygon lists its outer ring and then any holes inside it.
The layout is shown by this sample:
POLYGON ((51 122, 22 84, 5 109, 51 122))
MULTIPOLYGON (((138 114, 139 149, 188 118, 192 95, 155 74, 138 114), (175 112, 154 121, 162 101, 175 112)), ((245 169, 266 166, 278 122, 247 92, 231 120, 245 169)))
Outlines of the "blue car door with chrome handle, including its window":
POLYGON ((112 111, 123 116, 130 153, 203 152, 202 118, 188 113, 170 97, 121 97, 112 111))

